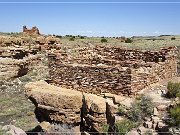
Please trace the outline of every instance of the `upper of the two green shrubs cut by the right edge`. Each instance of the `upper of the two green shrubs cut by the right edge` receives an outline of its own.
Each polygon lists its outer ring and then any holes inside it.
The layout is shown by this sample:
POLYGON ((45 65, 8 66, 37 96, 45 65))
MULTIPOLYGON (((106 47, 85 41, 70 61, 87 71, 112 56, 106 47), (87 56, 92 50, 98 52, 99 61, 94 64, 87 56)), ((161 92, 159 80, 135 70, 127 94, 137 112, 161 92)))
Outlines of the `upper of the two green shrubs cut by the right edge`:
POLYGON ((169 82, 167 85, 167 89, 168 89, 168 92, 166 96, 168 98, 175 98, 175 97, 180 98, 180 83, 169 82))

